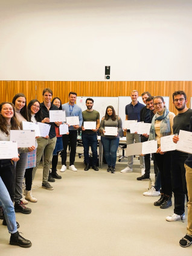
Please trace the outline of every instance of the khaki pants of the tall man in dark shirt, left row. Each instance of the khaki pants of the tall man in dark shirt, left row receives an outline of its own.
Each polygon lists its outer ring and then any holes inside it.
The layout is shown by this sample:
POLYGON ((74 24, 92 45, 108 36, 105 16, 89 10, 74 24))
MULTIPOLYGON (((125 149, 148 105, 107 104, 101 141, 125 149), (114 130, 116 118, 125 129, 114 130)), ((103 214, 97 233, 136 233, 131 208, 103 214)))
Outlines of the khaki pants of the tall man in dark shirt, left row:
POLYGON ((44 161, 43 161, 43 182, 48 181, 48 176, 50 173, 50 164, 51 164, 51 159, 53 157, 53 150, 56 147, 56 141, 57 137, 55 136, 54 138, 38 138, 37 143, 37 159, 36 159, 36 167, 33 168, 33 173, 32 173, 32 179, 34 179, 34 176, 36 174, 36 170, 39 166, 40 159, 42 158, 43 152, 44 154, 44 161))

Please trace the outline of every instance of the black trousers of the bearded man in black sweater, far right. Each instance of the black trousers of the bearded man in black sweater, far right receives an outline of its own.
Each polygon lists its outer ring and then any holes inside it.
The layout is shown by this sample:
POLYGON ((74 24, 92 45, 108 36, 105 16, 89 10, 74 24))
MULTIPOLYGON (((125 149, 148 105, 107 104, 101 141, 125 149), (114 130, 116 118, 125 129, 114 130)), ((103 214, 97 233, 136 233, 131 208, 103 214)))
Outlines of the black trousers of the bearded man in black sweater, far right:
MULTIPOLYGON (((187 196, 187 183, 184 163, 187 156, 180 152, 172 152, 171 158, 171 184, 174 193, 174 213, 185 213, 185 194, 187 196)), ((187 197, 188 198, 188 197, 187 197)))

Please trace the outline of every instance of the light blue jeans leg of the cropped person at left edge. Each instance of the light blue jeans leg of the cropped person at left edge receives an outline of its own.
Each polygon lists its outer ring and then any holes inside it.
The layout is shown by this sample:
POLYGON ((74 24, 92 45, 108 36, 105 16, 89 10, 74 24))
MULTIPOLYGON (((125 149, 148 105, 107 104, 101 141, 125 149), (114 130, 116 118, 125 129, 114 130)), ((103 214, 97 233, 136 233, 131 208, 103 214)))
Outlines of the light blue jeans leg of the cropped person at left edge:
POLYGON ((0 206, 4 210, 5 220, 7 222, 8 232, 11 234, 18 231, 14 213, 13 202, 10 199, 7 188, 0 177, 0 206))

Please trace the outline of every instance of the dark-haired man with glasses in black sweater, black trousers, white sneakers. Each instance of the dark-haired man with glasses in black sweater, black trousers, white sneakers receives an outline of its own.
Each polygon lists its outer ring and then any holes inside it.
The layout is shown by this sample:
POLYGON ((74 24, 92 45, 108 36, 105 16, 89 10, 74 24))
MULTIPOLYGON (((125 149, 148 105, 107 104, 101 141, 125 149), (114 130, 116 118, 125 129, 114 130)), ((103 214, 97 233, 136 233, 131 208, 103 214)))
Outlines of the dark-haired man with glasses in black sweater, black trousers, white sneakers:
MULTIPOLYGON (((190 130, 192 109, 187 107, 187 95, 184 91, 173 92, 173 104, 178 110, 178 115, 173 119, 173 133, 179 134, 180 130, 190 130)), ((178 136, 173 139, 177 141, 178 136)), ((174 141, 173 140, 173 141, 174 141)), ((171 183, 174 193, 174 213, 166 217, 168 222, 185 219, 185 195, 187 197, 187 184, 185 178, 185 160, 188 153, 173 150, 171 155, 171 183)))

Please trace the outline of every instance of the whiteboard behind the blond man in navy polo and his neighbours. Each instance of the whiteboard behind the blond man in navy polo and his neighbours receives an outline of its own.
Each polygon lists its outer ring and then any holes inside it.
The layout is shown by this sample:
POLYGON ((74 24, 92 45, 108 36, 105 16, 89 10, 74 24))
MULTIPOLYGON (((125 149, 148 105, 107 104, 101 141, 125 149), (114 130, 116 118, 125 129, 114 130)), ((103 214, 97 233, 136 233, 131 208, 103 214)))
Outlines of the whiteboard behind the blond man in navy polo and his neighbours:
MULTIPOLYGON (((169 97, 164 97, 165 106, 169 109, 169 97)), ((126 120, 126 105, 130 104, 132 101, 130 96, 120 96, 119 97, 119 105, 118 105, 118 115, 121 117, 122 120, 122 127, 124 127, 124 120, 126 120)), ((142 101, 142 97, 138 97, 138 101, 141 104, 144 104, 142 101)))

